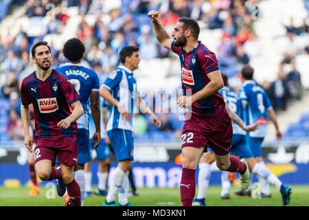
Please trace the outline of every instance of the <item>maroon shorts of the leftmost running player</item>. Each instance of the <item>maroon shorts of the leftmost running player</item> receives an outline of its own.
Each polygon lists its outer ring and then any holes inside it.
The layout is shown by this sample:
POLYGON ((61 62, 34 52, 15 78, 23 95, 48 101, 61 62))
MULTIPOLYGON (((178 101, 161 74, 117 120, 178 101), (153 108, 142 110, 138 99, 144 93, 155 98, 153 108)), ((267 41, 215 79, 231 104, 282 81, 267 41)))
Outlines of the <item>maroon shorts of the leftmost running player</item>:
POLYGON ((38 137, 34 150, 34 162, 42 159, 56 162, 56 156, 60 164, 66 166, 76 165, 78 162, 77 138, 75 137, 38 137))

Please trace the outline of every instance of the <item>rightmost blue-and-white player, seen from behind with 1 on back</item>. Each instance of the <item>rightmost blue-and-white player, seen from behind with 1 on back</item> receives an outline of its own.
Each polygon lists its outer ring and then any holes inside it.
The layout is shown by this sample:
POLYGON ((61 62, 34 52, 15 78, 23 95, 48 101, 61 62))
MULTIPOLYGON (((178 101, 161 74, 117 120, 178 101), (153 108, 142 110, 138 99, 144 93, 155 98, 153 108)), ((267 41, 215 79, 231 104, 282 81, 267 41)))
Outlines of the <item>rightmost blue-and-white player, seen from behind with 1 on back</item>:
MULTIPOLYGON (((242 105, 244 107, 244 117, 246 118, 247 124, 258 122, 260 124, 256 131, 249 132, 249 146, 253 153, 255 161, 260 164, 260 166, 266 168, 265 163, 262 158, 262 142, 266 136, 266 124, 268 117, 271 119, 275 125, 277 139, 282 139, 282 133, 279 129, 279 124, 277 122, 277 115, 273 110, 271 101, 269 100, 266 92, 258 83, 253 80, 253 68, 246 65, 242 68, 242 88, 240 89, 240 98, 242 100, 242 105)), ((262 192, 264 195, 270 195, 271 191, 269 186, 265 186, 266 183, 274 184, 282 194, 283 205, 287 205, 290 202, 290 194, 292 189, 289 186, 284 186, 282 181, 280 181, 275 175, 271 173, 266 181, 259 178, 262 181, 262 192)))

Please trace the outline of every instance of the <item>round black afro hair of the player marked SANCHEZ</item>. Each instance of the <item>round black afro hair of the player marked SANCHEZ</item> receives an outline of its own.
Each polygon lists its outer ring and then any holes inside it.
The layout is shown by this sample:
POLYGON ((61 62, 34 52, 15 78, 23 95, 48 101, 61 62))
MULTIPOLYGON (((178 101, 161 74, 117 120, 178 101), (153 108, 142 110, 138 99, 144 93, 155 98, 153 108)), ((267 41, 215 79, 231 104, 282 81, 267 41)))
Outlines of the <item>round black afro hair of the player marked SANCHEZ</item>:
POLYGON ((84 56, 85 47, 80 39, 73 37, 67 40, 63 46, 63 55, 71 62, 78 62, 84 56))

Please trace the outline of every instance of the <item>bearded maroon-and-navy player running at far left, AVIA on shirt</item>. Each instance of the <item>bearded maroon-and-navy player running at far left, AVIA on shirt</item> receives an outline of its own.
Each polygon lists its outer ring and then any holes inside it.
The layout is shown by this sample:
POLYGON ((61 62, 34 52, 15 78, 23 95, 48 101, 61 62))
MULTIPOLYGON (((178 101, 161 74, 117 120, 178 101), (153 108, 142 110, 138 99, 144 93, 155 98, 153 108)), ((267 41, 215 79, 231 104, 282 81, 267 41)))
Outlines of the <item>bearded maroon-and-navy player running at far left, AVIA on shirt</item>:
POLYGON ((80 186, 73 177, 73 166, 78 160, 76 120, 84 113, 80 96, 67 77, 52 69, 52 55, 47 42, 34 44, 31 52, 36 71, 24 78, 21 85, 25 146, 32 152, 29 105, 33 104, 37 139, 34 149, 36 173, 44 181, 61 179, 67 187, 71 205, 80 206, 80 186), (60 169, 53 166, 57 155, 60 169))

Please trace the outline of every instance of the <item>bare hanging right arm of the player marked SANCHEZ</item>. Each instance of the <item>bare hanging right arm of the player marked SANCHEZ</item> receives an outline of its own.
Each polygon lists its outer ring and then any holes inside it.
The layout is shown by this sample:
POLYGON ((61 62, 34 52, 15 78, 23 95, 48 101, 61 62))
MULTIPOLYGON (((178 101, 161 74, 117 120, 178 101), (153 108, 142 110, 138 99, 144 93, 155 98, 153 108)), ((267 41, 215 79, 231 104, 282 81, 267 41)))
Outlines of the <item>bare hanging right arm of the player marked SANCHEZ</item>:
POLYGON ((101 122, 101 114, 100 114, 100 103, 99 103, 99 92, 98 91, 91 91, 90 94, 90 108, 93 121, 95 123, 95 133, 93 134, 92 141, 95 140, 95 145, 93 148, 97 148, 97 146, 101 142, 101 129, 100 129, 100 122, 101 122))

